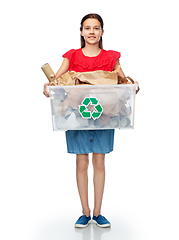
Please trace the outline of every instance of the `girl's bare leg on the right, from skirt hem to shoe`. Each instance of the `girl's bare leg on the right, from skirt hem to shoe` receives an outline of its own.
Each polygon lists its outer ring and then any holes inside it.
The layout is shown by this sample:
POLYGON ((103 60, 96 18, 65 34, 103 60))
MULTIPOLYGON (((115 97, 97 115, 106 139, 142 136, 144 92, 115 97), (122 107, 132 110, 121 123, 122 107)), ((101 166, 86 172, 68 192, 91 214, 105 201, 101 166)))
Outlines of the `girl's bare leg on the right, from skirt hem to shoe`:
POLYGON ((94 167, 94 216, 98 216, 101 212, 101 205, 104 192, 105 183, 105 154, 93 153, 93 167, 94 167))

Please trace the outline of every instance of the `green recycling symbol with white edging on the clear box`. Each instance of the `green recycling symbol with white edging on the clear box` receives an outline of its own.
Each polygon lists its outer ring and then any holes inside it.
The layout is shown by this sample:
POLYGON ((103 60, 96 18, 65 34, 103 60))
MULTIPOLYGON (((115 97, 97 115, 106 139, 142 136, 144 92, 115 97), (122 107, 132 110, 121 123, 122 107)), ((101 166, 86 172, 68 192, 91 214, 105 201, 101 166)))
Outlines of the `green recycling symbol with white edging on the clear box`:
POLYGON ((103 112, 103 108, 101 106, 101 104, 99 103, 99 100, 95 97, 86 97, 83 99, 82 105, 79 105, 79 113, 81 114, 81 116, 85 119, 89 119, 89 118, 93 118, 98 119, 102 112, 103 112), (88 111, 88 106, 89 105, 94 105, 94 111, 91 113, 91 111, 88 111))

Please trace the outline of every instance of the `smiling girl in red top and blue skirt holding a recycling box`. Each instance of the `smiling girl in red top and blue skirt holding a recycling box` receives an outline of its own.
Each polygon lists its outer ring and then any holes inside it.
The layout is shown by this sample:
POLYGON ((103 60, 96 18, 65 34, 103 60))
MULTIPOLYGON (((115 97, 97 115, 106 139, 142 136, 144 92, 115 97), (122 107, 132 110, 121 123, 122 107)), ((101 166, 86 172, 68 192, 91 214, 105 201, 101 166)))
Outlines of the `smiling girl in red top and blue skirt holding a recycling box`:
MULTIPOLYGON (((63 63, 56 78, 67 71, 89 72, 96 70, 113 71, 119 66, 120 52, 103 49, 103 20, 98 14, 88 14, 81 21, 81 48, 70 50, 63 55, 63 63)), ((125 78, 120 69, 118 76, 125 78)), ((123 80, 124 81, 124 80, 123 80)), ((127 82, 126 82, 127 83, 127 82)), ((44 84, 44 94, 49 97, 48 83, 44 84)), ((138 89, 139 90, 139 89, 138 89)), ((94 168, 94 209, 92 221, 99 227, 110 227, 110 222, 101 215, 101 205, 105 183, 105 154, 113 151, 114 129, 70 130, 66 131, 68 153, 76 154, 76 178, 83 215, 75 227, 86 227, 91 222, 88 204, 88 164, 92 153, 94 168)))

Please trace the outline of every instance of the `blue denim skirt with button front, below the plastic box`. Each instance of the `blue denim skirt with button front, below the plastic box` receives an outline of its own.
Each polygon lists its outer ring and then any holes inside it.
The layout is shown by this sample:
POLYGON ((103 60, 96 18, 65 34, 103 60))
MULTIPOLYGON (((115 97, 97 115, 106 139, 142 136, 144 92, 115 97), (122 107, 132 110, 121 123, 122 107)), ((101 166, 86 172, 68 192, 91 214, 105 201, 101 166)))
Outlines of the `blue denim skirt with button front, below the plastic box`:
POLYGON ((114 145, 114 129, 66 131, 68 153, 110 153, 114 145))

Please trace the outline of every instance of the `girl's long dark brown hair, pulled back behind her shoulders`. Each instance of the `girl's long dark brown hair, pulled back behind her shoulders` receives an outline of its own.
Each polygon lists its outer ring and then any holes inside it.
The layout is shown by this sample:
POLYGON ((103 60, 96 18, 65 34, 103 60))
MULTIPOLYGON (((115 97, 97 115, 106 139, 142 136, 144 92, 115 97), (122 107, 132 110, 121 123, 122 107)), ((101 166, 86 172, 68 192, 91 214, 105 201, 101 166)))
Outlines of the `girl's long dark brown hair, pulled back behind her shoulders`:
MULTIPOLYGON (((90 13, 90 14, 87 14, 86 16, 84 16, 81 20, 81 27, 80 27, 80 30, 82 31, 83 30, 83 23, 85 20, 87 20, 88 18, 95 18, 97 19, 100 24, 101 24, 101 28, 103 30, 103 26, 104 26, 104 23, 103 23, 103 19, 100 15, 96 14, 96 13, 90 13)), ((85 39, 83 36, 81 36, 81 48, 84 48, 85 47, 85 39)), ((102 41, 102 36, 99 40, 99 48, 103 49, 103 41, 102 41)))

